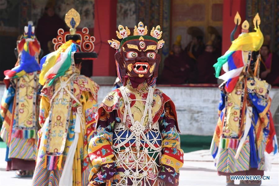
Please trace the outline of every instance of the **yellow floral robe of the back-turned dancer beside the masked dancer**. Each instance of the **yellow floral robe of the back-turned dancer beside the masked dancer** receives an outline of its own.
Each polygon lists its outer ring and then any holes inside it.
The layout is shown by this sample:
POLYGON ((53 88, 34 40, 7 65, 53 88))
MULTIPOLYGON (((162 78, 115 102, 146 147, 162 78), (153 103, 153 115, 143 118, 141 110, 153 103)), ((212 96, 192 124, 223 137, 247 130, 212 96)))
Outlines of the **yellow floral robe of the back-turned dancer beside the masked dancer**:
MULTIPOLYGON (((72 185, 83 186, 88 184, 88 176, 92 168, 87 149, 95 127, 94 115, 97 111, 97 92, 99 86, 90 78, 78 75, 79 70, 76 70, 75 73, 77 75, 74 75, 67 83, 67 88, 82 105, 83 118, 81 120, 84 121, 84 126, 80 126, 77 147, 73 154, 73 166, 68 169, 73 174, 72 185)), ((44 134, 41 131, 38 133, 38 156, 32 180, 32 185, 34 186, 59 185, 66 158, 70 155, 68 154, 69 149, 73 144, 75 135, 77 135, 75 134, 75 122, 77 120, 77 107, 79 107, 79 104, 73 98, 70 98, 69 93, 65 89, 62 92, 61 102, 59 100, 61 98, 59 97, 60 91, 56 97, 54 96, 56 90, 61 86, 61 80, 65 82, 69 77, 70 75, 64 75, 52 86, 48 87, 45 85, 42 89, 39 123, 42 126, 47 124, 47 133, 44 134), (53 97, 55 98, 52 105, 50 102, 53 97), (56 104, 61 105, 55 107, 56 104), (50 113, 52 113, 51 122, 47 119, 50 113), (65 131, 63 127, 65 127, 65 131), (64 133, 65 136, 62 137, 64 133), (53 152, 51 152, 52 148, 54 148, 53 152), (62 149, 61 153, 57 149, 62 149)))

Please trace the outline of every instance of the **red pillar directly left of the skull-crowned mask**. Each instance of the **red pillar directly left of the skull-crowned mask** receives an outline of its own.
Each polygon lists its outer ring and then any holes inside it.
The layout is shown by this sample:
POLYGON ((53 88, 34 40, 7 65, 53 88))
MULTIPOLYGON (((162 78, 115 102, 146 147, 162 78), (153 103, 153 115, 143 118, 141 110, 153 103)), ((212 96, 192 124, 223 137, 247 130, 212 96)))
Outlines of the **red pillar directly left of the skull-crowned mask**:
POLYGON ((116 4, 117 0, 95 0, 94 51, 99 54, 93 62, 93 76, 116 76, 115 49, 107 43, 107 40, 117 38, 116 4))

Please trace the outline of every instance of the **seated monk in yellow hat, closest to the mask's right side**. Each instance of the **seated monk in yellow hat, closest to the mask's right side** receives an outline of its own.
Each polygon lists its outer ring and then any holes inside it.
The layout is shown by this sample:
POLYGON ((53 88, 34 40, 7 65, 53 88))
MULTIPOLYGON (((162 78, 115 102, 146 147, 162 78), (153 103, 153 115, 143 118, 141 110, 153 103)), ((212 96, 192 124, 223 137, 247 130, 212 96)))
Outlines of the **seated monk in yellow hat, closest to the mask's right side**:
POLYGON ((178 35, 172 51, 164 60, 164 69, 159 84, 184 84, 187 81, 189 66, 181 53, 181 35, 178 35))

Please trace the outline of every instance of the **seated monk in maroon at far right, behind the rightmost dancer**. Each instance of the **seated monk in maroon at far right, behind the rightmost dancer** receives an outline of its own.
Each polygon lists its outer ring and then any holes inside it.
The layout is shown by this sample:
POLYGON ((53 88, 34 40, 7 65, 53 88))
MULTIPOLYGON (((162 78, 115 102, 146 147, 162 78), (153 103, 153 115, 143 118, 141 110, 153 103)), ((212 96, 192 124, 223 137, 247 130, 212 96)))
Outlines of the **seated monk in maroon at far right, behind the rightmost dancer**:
POLYGON ((261 47, 260 78, 266 80, 272 86, 279 86, 279 57, 269 49, 270 36, 264 37, 261 47))

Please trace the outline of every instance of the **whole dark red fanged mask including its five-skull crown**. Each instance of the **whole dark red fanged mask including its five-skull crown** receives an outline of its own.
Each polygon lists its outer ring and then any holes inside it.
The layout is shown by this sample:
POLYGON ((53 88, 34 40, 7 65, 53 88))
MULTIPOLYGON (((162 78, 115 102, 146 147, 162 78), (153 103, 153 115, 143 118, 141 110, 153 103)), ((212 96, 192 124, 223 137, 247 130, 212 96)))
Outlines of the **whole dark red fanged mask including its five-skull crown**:
POLYGON ((140 32, 135 26, 134 35, 130 35, 130 30, 119 25, 119 32, 116 34, 119 39, 123 39, 121 43, 117 40, 108 40, 112 48, 117 49, 115 60, 117 62, 117 70, 119 79, 123 77, 133 78, 156 78, 158 77, 158 69, 161 61, 158 49, 164 45, 164 40, 158 41, 161 38, 162 31, 160 26, 153 27, 151 36, 147 36, 147 27, 142 22, 138 24, 142 28, 140 32), (125 34, 122 32, 125 31, 125 34), (121 34, 122 33, 122 34, 121 34))

